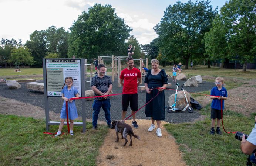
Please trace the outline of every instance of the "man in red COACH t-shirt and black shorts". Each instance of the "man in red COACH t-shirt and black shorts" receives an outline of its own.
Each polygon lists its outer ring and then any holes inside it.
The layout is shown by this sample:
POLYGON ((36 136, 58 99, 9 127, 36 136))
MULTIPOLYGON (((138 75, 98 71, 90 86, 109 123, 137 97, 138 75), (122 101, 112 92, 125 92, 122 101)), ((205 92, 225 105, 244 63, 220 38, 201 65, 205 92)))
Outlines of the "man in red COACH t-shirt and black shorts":
MULTIPOLYGON (((141 83, 141 72, 139 69, 134 68, 134 62, 132 57, 126 58, 127 68, 121 71, 120 83, 123 86, 122 94, 122 121, 125 119, 127 108, 130 104, 132 114, 138 110, 138 86, 141 83), (124 80, 124 82, 123 82, 124 80)), ((135 114, 132 115, 132 125, 134 128, 138 128, 137 122, 135 121, 135 114)))

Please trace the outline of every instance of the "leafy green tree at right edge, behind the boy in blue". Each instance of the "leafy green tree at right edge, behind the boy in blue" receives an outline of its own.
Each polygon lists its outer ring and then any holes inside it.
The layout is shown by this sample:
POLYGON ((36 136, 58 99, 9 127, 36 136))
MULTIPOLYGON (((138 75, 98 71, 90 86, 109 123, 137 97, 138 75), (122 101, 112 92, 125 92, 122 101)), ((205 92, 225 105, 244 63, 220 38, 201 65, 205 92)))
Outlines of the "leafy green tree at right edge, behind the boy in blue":
POLYGON ((211 59, 239 56, 246 71, 256 55, 255 0, 230 0, 220 9, 213 28, 205 35, 206 53, 211 59))

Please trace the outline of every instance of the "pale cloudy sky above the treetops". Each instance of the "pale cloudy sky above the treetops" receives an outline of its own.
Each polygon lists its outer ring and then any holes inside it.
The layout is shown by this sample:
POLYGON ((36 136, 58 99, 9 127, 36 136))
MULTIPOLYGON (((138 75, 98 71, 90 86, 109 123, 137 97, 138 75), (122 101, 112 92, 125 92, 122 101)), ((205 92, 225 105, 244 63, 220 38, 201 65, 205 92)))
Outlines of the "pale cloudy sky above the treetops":
MULTIPOLYGON (((29 40, 34 31, 46 30, 50 26, 69 30, 82 11, 95 3, 110 4, 116 9, 118 17, 133 29, 139 44, 149 44, 157 37, 153 27, 158 24, 169 5, 177 0, 0 0, 0 39, 14 38, 29 40)), ((181 0, 186 3, 188 0, 181 0)), ((195 0, 192 0, 195 1, 195 0)), ((213 9, 218 10, 225 0, 212 0, 213 9)))

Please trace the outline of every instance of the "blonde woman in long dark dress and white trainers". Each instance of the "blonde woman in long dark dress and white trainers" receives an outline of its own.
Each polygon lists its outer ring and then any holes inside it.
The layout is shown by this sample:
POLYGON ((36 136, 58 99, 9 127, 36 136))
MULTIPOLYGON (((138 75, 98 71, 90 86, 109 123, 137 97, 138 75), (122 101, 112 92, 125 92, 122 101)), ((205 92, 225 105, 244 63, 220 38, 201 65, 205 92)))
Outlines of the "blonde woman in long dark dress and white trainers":
POLYGON ((146 105, 145 114, 146 117, 151 117, 152 124, 148 131, 155 129, 155 120, 157 124, 156 134, 161 137, 160 124, 161 120, 165 119, 165 94, 164 89, 167 86, 167 75, 164 69, 159 69, 159 61, 157 59, 151 60, 152 70, 148 70, 148 74, 145 77, 146 88, 146 103, 155 97, 151 102, 146 105), (158 88, 158 89, 156 89, 158 88))

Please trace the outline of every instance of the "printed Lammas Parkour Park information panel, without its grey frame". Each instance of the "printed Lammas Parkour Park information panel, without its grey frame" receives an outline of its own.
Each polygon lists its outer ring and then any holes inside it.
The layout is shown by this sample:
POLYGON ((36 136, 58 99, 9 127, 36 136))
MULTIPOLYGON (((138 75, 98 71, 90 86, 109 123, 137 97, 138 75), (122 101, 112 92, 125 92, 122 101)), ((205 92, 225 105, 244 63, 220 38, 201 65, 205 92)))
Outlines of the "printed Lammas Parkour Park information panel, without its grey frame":
POLYGON ((73 78, 73 86, 81 97, 81 59, 45 59, 47 96, 61 97, 65 77, 73 78))

